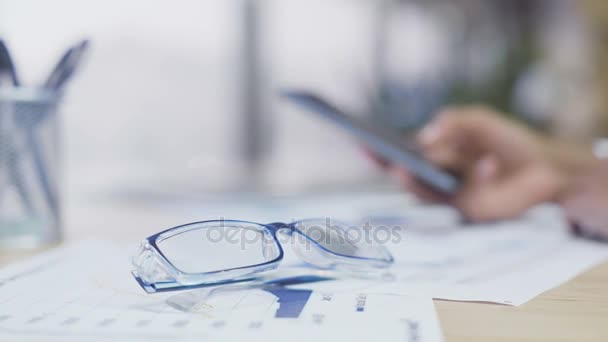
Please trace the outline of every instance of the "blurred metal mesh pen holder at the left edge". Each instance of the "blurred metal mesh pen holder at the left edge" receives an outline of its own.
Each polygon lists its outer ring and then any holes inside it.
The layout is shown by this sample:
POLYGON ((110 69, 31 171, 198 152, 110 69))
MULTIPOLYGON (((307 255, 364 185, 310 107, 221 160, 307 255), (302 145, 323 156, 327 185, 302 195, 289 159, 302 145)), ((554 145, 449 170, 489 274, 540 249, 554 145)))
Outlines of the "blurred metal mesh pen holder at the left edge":
POLYGON ((0 88, 0 249, 61 239, 58 99, 0 88))

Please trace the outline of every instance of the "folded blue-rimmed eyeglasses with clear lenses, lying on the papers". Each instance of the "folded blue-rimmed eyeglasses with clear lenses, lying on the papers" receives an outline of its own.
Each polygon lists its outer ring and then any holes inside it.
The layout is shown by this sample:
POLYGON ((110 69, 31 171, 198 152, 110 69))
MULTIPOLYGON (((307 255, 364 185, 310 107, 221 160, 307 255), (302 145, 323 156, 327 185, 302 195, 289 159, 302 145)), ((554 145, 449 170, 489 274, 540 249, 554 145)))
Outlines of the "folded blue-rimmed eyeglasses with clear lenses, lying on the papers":
POLYGON ((322 269, 369 271, 393 263, 385 246, 372 243, 368 230, 329 219, 289 224, 215 220, 146 238, 131 273, 148 293, 250 281, 279 266, 285 242, 300 259, 322 269))

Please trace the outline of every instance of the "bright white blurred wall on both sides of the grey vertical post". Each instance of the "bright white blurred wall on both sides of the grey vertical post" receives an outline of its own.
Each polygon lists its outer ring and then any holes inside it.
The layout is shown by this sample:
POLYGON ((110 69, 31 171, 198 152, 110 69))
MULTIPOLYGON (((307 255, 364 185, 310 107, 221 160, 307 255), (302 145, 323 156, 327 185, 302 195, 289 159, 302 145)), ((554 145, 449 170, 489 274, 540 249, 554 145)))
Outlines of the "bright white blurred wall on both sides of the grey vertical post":
MULTIPOLYGON (((0 0, 0 34, 30 84, 44 79, 69 44, 92 41, 63 106, 70 184, 199 191, 229 187, 239 177, 240 4, 0 0)), ((314 87, 356 107, 361 89, 354 82, 369 78, 370 3, 265 4, 267 90, 314 87)), ((374 173, 350 139, 272 105, 267 185, 352 183, 374 173)))

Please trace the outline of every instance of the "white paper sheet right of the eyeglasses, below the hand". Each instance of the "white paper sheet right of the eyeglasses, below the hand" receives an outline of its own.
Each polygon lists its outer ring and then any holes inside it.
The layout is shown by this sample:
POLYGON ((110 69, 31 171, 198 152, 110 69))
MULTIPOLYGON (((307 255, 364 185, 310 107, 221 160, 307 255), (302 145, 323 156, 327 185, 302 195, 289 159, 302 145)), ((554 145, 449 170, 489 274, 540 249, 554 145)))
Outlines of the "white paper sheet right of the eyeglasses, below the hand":
POLYGON ((318 291, 423 295, 521 305, 608 259, 608 245, 575 238, 550 212, 521 220, 401 231, 395 264, 374 280, 298 285, 318 291))

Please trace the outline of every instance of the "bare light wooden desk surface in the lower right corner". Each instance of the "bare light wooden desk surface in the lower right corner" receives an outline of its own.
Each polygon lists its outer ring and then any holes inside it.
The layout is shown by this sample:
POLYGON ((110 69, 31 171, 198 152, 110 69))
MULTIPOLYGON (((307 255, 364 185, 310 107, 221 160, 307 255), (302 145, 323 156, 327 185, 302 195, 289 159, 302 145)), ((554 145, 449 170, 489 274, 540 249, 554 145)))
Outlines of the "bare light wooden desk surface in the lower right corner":
POLYGON ((608 263, 511 307, 435 300, 447 341, 608 341, 608 263))

